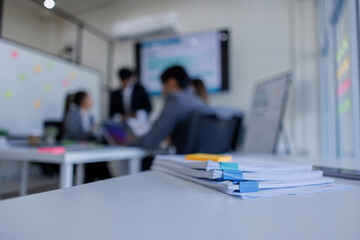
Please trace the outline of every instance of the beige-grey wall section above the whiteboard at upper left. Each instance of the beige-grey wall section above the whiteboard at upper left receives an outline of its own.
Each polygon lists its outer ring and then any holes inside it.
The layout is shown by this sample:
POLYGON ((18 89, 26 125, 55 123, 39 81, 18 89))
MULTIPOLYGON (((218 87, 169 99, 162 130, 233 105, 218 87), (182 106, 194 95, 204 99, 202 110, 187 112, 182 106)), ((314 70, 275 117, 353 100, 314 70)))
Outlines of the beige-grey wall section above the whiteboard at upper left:
POLYGON ((75 27, 41 6, 27 0, 6 0, 3 36, 31 47, 58 54, 75 41, 75 27))

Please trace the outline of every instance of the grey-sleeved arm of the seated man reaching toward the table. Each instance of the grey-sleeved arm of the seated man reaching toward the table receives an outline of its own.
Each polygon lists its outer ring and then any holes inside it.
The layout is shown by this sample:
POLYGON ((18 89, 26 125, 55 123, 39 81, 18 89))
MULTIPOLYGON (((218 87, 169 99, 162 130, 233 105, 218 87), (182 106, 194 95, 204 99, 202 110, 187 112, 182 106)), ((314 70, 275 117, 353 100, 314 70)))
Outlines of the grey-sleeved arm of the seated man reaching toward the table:
POLYGON ((178 111, 178 101, 173 96, 168 96, 164 110, 154 123, 151 131, 144 137, 130 143, 146 149, 156 149, 159 143, 170 136, 179 124, 181 113, 178 111))

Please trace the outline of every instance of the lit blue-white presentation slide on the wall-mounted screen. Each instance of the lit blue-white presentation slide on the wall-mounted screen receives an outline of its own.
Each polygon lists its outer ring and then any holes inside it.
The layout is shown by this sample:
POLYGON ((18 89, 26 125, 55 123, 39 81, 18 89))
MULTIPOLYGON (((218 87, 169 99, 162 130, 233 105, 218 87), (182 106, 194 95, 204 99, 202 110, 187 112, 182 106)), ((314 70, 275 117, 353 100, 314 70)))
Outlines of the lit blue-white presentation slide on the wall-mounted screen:
POLYGON ((140 81, 150 93, 161 92, 160 76, 173 65, 183 66, 191 78, 200 78, 211 92, 222 89, 222 41, 224 32, 210 31, 139 43, 140 81))

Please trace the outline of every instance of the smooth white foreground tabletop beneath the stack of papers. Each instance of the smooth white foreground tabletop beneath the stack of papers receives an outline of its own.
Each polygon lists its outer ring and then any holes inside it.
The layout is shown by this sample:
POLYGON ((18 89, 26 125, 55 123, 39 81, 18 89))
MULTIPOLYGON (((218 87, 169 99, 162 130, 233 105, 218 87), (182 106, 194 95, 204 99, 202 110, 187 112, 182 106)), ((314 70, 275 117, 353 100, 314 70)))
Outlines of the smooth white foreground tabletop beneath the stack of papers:
POLYGON ((145 172, 0 202, 1 239, 360 239, 354 190, 241 200, 145 172))

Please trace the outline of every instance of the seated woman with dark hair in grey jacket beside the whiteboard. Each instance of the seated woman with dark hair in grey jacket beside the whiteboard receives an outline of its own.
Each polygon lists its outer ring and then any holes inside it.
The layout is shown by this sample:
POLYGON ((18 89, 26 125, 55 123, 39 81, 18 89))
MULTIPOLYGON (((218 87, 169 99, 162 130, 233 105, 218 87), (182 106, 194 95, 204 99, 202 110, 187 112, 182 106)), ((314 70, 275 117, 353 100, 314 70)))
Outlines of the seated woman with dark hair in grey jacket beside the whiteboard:
MULTIPOLYGON (((75 141, 96 141, 96 124, 90 113, 92 100, 88 93, 77 92, 72 106, 65 116, 64 139, 75 141)), ((85 183, 110 178, 106 162, 85 164, 85 183)))

